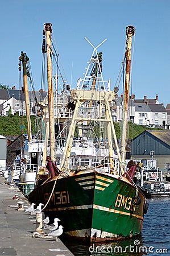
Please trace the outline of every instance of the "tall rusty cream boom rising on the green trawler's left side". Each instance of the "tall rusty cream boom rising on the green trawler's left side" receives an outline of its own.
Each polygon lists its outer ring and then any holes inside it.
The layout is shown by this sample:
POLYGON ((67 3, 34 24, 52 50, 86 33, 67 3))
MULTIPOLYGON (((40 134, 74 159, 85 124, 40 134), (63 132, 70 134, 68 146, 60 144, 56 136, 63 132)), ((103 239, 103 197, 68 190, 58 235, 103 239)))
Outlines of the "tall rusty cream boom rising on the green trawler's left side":
POLYGON ((52 24, 44 24, 44 32, 47 42, 47 76, 48 76, 48 112, 49 112, 49 138, 50 138, 50 155, 51 160, 55 160, 55 123, 53 110, 53 84, 52 84, 52 48, 51 48, 51 33, 52 24))

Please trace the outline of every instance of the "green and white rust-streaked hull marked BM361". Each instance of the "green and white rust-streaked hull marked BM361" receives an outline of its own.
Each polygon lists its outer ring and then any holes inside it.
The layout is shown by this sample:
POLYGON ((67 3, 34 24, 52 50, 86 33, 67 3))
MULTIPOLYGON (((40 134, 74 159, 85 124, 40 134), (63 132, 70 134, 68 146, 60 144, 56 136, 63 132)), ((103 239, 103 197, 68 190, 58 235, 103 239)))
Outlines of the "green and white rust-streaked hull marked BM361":
POLYGON ((141 234, 145 197, 139 191, 141 201, 135 205, 135 194, 136 187, 126 178, 88 171, 60 178, 56 185, 55 179, 48 181, 28 200, 45 205, 51 196, 44 213, 51 222, 60 218, 64 236, 105 241, 141 234))

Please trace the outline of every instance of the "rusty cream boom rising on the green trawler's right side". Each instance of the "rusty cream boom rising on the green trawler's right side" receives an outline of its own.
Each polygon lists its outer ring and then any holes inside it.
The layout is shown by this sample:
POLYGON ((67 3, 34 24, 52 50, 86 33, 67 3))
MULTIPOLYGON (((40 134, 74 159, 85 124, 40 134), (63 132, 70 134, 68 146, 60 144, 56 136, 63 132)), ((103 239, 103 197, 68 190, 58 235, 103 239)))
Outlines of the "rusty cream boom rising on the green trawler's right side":
POLYGON ((126 27, 127 35, 127 48, 125 52, 126 57, 126 77, 125 77, 125 93, 124 93, 124 105, 123 105, 123 131, 122 131, 122 165, 125 166, 126 158, 126 140, 127 140, 127 111, 128 111, 128 100, 130 90, 130 69, 131 69, 131 48, 132 48, 132 36, 135 35, 135 27, 126 27))

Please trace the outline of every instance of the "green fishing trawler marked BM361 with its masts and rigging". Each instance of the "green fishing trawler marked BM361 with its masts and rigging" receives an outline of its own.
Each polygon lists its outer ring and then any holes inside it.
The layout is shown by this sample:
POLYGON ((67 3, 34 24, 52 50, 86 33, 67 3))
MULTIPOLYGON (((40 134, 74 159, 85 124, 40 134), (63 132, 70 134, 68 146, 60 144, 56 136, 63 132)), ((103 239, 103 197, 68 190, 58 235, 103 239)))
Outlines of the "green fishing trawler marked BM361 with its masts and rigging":
MULTIPOLYGON (((51 222, 59 217, 64 226, 62 237, 90 242, 114 241, 142 233, 146 197, 132 181, 136 165, 125 166, 127 105, 130 85, 131 45, 135 28, 126 29, 126 79, 121 151, 113 123, 115 92, 102 75, 102 52, 93 47, 84 78, 71 89, 65 108, 61 143, 54 133, 53 85, 51 79, 52 24, 45 23, 48 70, 48 112, 50 155, 49 179, 36 187, 28 200, 38 205, 51 222), (67 126, 67 128, 65 128, 67 126), (113 146, 115 145, 115 146, 113 146), (61 154, 62 153, 62 154, 61 154)), ((115 89, 117 91, 117 88, 115 89)), ((60 125, 61 126, 61 125, 60 125)))

